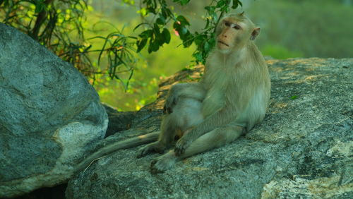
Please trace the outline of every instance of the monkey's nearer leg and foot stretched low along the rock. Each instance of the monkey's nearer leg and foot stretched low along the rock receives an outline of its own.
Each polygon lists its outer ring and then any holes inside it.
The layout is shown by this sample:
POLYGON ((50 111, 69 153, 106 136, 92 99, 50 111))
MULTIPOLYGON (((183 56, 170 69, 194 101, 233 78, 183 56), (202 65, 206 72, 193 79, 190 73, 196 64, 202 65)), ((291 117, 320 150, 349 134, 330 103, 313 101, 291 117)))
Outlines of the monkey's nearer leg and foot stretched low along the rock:
POLYGON ((166 171, 172 168, 178 160, 231 143, 239 138, 242 133, 243 127, 241 126, 216 128, 193 141, 183 154, 177 156, 174 150, 169 150, 166 154, 154 159, 151 162, 151 172, 159 173, 166 171))

